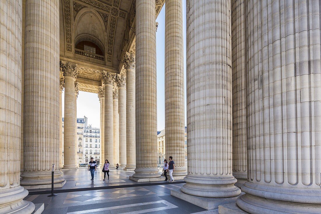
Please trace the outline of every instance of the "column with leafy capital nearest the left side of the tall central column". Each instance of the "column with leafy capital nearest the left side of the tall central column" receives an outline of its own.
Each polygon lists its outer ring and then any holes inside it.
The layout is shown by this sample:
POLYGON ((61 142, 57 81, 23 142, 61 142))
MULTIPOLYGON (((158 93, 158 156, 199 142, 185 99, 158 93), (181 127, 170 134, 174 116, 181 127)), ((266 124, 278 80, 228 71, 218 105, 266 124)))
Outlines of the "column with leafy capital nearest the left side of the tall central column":
POLYGON ((126 69, 126 167, 125 171, 136 168, 135 140, 135 56, 126 53, 123 60, 126 69))

